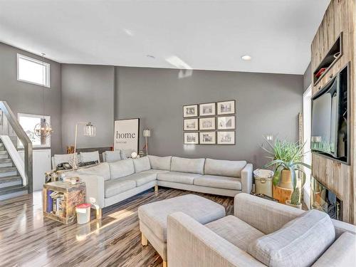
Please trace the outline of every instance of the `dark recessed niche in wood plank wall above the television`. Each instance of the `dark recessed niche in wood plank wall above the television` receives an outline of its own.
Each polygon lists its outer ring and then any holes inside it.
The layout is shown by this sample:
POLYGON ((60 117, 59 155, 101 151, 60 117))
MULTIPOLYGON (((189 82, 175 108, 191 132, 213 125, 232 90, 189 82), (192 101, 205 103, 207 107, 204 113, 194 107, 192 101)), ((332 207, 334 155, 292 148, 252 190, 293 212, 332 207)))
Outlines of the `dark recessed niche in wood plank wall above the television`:
POLYGON ((335 43, 330 48, 330 51, 326 54, 323 61, 320 62, 318 68, 313 72, 313 84, 314 86, 328 73, 328 70, 339 60, 342 56, 342 32, 337 37, 335 43))

